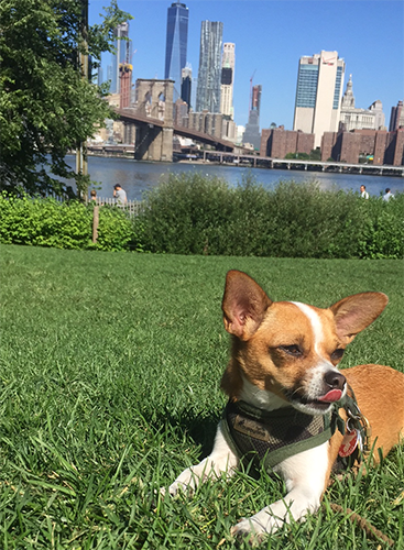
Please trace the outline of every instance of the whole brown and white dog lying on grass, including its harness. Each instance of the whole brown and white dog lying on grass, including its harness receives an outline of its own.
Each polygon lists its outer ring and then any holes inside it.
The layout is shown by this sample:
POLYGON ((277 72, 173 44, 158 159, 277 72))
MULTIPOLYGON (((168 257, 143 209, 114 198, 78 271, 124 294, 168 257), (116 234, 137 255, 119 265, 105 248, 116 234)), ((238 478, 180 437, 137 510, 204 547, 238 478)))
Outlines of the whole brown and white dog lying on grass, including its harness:
POLYGON ((244 454, 258 457, 283 477, 287 491, 231 530, 238 539, 260 542, 284 522, 318 509, 341 450, 342 457, 356 450, 357 463, 363 447, 374 463, 386 455, 403 435, 404 374, 374 364, 340 372, 338 364, 387 301, 382 293, 361 293, 328 309, 275 302, 245 273, 228 272, 222 311, 232 346, 221 387, 229 403, 211 454, 186 469, 170 494, 230 477, 244 454), (387 417, 381 413, 386 403, 387 417), (335 418, 339 429, 330 427, 335 418))

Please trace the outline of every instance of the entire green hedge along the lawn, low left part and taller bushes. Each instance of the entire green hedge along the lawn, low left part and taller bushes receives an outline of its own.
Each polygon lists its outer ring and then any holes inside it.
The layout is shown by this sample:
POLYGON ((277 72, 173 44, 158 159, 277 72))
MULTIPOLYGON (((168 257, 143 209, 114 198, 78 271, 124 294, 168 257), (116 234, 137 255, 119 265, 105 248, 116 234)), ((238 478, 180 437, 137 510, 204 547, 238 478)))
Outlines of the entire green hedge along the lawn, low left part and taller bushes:
POLYGON ((92 207, 0 195, 0 242, 61 249, 279 257, 404 257, 404 194, 390 202, 315 183, 264 189, 198 174, 171 175, 149 191, 140 216, 102 207, 91 242, 92 207))

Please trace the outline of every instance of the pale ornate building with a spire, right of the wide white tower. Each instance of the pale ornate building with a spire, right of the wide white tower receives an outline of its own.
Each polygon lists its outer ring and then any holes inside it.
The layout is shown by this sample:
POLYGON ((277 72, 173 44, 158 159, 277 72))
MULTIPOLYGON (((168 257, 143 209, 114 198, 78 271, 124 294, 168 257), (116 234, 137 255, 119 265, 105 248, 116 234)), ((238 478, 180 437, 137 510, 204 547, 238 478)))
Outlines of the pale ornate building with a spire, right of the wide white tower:
POLYGON ((384 129, 383 105, 378 99, 369 109, 360 109, 354 105, 352 75, 349 75, 346 91, 341 100, 340 130, 382 130, 384 129))

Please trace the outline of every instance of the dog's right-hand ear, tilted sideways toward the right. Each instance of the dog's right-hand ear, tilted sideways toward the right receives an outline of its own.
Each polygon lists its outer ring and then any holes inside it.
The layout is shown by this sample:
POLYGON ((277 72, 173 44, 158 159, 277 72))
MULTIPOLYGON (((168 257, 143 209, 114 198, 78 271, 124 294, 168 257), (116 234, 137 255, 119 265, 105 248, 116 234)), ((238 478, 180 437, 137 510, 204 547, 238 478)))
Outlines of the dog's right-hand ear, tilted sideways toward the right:
POLYGON ((361 293, 343 298, 330 310, 334 314, 337 336, 342 343, 349 343, 376 319, 387 305, 383 293, 361 293))

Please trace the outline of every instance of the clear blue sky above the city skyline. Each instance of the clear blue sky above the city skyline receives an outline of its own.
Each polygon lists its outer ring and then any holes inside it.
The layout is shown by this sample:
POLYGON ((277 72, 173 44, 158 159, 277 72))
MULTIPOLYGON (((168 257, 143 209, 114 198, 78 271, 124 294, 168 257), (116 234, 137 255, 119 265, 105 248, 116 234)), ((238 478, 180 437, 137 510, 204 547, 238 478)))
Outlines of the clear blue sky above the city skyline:
MULTIPOLYGON (((223 23, 223 42, 236 44, 234 120, 245 124, 250 77, 262 85, 261 128, 271 122, 292 129, 297 64, 302 55, 337 51, 352 74, 356 106, 380 99, 390 111, 404 99, 403 0, 183 0, 189 9, 188 63, 196 77, 200 23, 223 23)), ((133 81, 164 78, 167 8, 172 0, 118 0, 134 19, 133 81)), ((90 0, 89 21, 99 21, 108 0, 90 0)), ((102 65, 109 56, 102 58, 102 65)))

